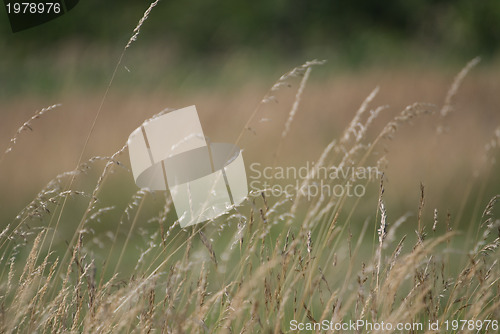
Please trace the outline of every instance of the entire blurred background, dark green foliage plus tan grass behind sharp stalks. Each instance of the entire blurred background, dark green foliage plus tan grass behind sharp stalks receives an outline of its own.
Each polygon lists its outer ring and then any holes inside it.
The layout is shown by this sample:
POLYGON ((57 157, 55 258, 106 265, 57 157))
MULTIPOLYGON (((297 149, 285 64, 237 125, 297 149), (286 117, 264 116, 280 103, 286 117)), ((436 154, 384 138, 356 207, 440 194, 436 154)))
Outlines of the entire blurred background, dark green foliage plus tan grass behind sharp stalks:
MULTIPOLYGON (((2 225, 53 177, 74 169, 82 151, 84 160, 112 155, 165 108, 196 105, 213 141, 235 142, 243 131, 247 166, 273 163, 300 78, 277 93, 277 103, 261 108, 257 120, 268 122, 251 131, 245 124, 283 73, 312 59, 327 62, 312 71, 278 165, 316 160, 378 86, 369 108, 389 107, 372 137, 414 102, 433 104, 435 111, 405 124, 378 151, 387 152, 386 201, 394 219, 416 211, 421 182, 428 217, 434 207, 443 216, 477 211, 498 192, 498 173, 480 175, 484 147, 500 125, 499 1, 162 0, 111 82, 149 5, 81 1, 62 17, 18 33, 1 13, 0 153, 37 110, 62 105, 23 131, 1 162, 2 225), (481 62, 458 90, 453 112, 439 119, 453 78, 476 56, 481 62), (446 131, 439 133, 439 126, 446 131), (480 199, 471 195, 476 191, 480 199)), ((128 166, 128 153, 120 160, 128 166)), ((122 198, 123 209, 137 190, 132 176, 122 171, 112 182, 109 196, 122 198)), ((363 205, 373 214, 377 202, 363 205)))

